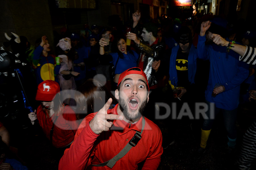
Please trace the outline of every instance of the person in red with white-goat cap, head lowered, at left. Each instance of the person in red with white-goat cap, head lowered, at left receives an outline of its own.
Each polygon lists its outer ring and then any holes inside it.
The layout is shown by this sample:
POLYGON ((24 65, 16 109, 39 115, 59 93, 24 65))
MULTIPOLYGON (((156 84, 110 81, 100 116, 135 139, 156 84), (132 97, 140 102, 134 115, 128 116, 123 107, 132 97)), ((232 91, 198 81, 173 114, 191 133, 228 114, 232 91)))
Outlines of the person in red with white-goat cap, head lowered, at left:
POLYGON ((55 148, 60 148, 58 151, 63 155, 64 149, 74 141, 77 132, 75 112, 61 102, 59 84, 53 80, 45 80, 38 85, 36 100, 42 101, 42 104, 30 112, 28 117, 33 125, 38 120, 46 137, 55 148))

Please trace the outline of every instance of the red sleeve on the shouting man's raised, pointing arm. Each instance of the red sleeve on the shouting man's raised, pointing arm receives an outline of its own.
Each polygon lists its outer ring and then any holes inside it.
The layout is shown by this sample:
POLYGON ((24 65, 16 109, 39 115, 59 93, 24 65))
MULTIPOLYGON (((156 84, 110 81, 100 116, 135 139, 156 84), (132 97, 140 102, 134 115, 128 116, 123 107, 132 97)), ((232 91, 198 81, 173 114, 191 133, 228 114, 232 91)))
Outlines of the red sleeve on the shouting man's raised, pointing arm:
POLYGON ((77 130, 74 142, 70 148, 65 150, 59 162, 59 170, 82 170, 87 165, 90 152, 99 135, 92 131, 89 121, 84 121, 84 123, 87 123, 86 126, 82 123, 77 130), (82 128, 83 126, 84 128, 82 128))

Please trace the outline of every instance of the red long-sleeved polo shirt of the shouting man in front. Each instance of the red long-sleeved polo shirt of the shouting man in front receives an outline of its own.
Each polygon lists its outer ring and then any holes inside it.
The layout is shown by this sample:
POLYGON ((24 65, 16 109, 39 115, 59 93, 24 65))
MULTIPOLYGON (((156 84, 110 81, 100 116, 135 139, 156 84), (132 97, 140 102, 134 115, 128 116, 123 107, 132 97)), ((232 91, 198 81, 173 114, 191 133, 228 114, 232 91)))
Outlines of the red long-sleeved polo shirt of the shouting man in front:
MULTIPOLYGON (((108 114, 117 114, 117 105, 108 110, 108 114)), ((89 114, 81 122, 75 135, 75 140, 70 148, 65 150, 59 162, 59 169, 110 169, 107 166, 95 167, 117 155, 134 136, 136 131, 141 131, 142 117, 134 124, 124 120, 114 120, 109 131, 100 135, 95 134, 89 125, 96 113, 89 114)), ((138 144, 118 160, 112 169, 138 169, 138 163, 143 162, 143 169, 157 169, 162 148, 162 133, 158 126, 145 118, 145 127, 142 138, 138 144)))

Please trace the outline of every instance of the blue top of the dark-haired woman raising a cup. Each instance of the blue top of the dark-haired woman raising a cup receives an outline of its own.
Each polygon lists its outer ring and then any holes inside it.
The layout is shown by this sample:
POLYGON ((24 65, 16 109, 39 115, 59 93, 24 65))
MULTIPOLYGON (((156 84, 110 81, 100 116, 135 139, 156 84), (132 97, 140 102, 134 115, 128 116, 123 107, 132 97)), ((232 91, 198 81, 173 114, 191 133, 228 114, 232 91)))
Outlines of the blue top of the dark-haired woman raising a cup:
MULTIPOLYGON (((110 53, 110 55, 113 58, 113 61, 111 61, 110 63, 113 63, 113 65, 115 66, 118 59, 118 53, 117 52, 110 53)), ((137 67, 138 58, 139 58, 139 54, 137 54, 135 51, 133 51, 133 54, 131 54, 130 52, 127 52, 127 54, 123 53, 123 58, 119 57, 118 59, 118 62, 115 68, 115 74, 121 74, 129 68, 137 67)))

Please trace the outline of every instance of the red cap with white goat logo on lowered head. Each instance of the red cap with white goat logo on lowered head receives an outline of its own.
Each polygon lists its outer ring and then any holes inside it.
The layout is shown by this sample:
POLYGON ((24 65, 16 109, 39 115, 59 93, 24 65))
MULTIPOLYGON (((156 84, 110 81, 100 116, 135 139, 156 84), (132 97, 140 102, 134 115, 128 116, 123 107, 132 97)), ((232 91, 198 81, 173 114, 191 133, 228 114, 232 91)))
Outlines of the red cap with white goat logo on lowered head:
POLYGON ((57 82, 53 80, 45 80, 38 85, 36 100, 52 101, 59 91, 59 84, 57 82))

